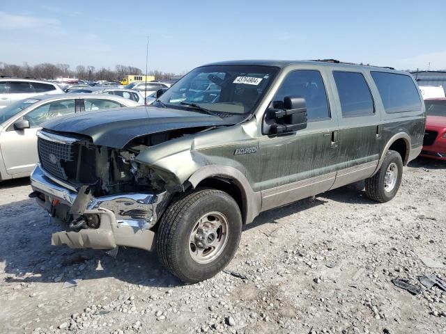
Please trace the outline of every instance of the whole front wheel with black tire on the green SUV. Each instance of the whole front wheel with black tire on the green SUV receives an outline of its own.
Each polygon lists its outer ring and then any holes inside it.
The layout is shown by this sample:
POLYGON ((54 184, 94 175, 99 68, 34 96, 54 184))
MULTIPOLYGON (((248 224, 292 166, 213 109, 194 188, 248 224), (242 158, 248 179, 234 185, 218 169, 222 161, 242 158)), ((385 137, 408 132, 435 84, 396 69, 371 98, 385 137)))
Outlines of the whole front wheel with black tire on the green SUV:
POLYGON ((215 276, 232 260, 242 216, 224 191, 203 189, 180 196, 164 212, 156 235, 164 267, 185 283, 215 276))

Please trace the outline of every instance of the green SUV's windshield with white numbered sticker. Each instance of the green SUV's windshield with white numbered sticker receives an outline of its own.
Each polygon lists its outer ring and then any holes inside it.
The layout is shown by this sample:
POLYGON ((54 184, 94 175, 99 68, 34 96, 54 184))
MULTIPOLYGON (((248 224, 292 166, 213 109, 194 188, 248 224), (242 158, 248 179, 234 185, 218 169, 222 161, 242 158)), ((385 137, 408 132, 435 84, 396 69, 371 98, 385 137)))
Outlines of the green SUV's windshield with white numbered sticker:
POLYGON ((169 88, 154 105, 246 117, 254 111, 278 70, 255 65, 198 67, 169 88))

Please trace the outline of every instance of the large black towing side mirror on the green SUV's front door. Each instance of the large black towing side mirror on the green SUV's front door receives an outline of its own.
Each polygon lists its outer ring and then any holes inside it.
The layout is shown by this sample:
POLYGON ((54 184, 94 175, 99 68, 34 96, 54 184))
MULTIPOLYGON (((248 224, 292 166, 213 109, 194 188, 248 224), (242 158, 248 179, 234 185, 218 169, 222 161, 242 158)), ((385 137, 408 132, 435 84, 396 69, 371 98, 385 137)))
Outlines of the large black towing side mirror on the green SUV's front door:
POLYGON ((286 134, 307 127, 307 103, 303 97, 286 96, 272 102, 263 120, 263 134, 286 134))

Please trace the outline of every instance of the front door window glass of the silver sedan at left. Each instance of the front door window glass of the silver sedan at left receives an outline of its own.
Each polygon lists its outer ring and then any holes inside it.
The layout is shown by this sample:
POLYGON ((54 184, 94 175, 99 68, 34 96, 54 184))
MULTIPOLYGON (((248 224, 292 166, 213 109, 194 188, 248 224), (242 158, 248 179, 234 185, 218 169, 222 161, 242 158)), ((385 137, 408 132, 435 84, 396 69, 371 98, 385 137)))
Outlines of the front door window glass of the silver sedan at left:
POLYGON ((43 104, 38 108, 26 113, 24 120, 29 121, 31 127, 40 127, 45 120, 51 120, 63 115, 75 113, 75 100, 53 101, 43 104))

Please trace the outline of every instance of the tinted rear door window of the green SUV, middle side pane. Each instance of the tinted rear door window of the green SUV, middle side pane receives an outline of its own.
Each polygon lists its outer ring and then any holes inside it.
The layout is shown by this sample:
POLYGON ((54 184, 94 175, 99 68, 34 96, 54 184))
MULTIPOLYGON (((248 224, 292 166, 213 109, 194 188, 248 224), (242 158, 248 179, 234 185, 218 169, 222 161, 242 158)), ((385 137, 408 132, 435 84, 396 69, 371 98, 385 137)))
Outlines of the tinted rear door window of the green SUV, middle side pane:
POLYGON ((341 101, 342 116, 366 116, 374 113, 374 101, 361 73, 333 72, 341 101))

